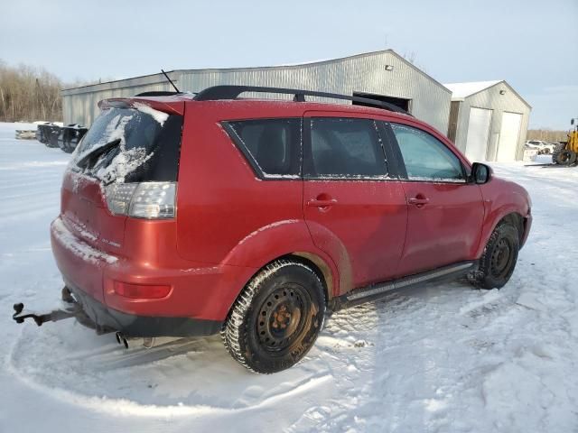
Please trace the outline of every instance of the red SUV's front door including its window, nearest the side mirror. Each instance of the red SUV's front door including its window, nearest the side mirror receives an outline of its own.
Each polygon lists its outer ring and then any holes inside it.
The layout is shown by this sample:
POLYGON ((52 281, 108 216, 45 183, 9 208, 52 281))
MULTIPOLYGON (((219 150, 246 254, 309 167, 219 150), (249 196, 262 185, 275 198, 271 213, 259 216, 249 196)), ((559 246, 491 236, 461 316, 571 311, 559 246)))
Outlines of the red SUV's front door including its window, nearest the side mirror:
POLYGON ((433 134, 391 124, 406 170, 406 246, 399 274, 472 260, 484 217, 480 187, 466 181, 463 164, 433 134))

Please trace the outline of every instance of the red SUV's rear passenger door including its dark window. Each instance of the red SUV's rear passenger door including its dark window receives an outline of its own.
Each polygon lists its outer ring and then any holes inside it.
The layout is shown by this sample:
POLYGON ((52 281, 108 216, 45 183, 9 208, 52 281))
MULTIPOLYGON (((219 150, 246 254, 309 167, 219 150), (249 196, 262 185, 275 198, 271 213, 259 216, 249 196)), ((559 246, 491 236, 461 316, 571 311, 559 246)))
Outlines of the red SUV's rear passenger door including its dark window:
POLYGON ((375 122, 306 113, 303 132, 304 216, 313 243, 350 272, 341 292, 392 278, 406 236, 406 196, 387 175, 375 122))

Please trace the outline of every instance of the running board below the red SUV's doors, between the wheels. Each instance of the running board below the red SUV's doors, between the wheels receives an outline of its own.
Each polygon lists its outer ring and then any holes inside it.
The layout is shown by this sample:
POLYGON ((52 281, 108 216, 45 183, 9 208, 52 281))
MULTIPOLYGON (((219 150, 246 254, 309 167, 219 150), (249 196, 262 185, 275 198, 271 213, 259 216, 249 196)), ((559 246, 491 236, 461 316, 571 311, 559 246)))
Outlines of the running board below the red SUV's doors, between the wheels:
POLYGON ((337 311, 339 309, 354 307, 379 299, 392 291, 417 286, 424 282, 454 280, 474 271, 476 263, 477 262, 454 263, 432 271, 416 273, 408 277, 400 278, 399 280, 381 282, 361 289, 351 290, 345 295, 331 299, 331 309, 337 311))

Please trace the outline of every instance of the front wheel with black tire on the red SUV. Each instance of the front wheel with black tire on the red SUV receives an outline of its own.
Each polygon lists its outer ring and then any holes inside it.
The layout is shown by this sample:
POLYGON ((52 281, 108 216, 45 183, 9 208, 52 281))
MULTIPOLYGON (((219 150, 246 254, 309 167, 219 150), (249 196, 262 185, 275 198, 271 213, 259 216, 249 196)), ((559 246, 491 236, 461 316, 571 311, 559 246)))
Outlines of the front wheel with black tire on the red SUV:
POLYGON ((480 258, 480 268, 470 276, 471 283, 479 289, 502 288, 516 268, 519 247, 517 228, 510 223, 500 223, 489 236, 480 258))

